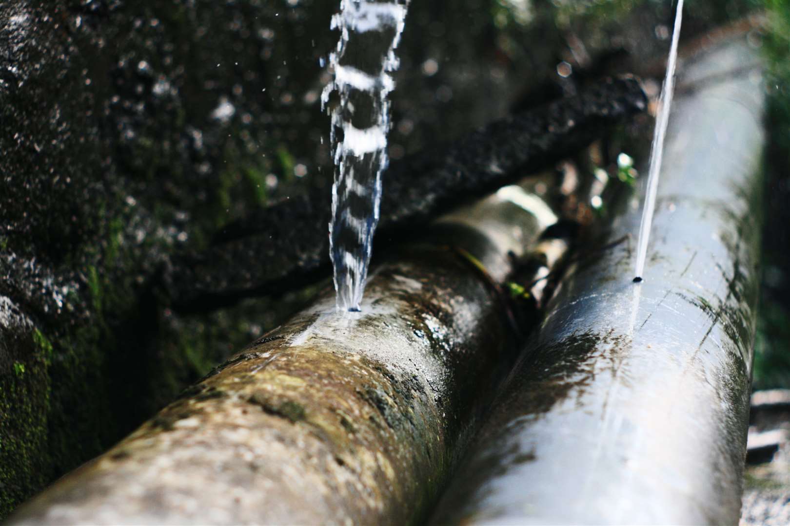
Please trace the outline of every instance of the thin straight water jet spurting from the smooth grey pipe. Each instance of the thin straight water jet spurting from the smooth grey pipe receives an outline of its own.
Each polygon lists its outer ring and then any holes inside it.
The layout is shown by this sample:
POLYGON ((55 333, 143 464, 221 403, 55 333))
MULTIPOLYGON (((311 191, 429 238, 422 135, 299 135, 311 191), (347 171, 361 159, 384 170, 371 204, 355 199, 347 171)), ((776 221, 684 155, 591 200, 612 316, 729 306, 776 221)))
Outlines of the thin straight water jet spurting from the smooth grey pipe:
POLYGON ((680 39, 680 26, 683 23, 683 0, 679 0, 675 12, 675 31, 672 33, 672 47, 669 50, 667 62, 667 76, 664 77, 664 87, 661 89, 659 100, 658 118, 656 118, 656 131, 653 134, 653 147, 650 151, 650 170, 647 178, 647 195, 645 207, 642 210, 641 225, 639 226, 639 242, 637 248, 637 262, 634 272, 634 282, 642 281, 645 271, 645 257, 647 244, 650 239, 650 227, 653 226, 653 214, 656 210, 656 194, 658 193, 658 180, 661 171, 661 162, 664 160, 664 138, 669 125, 669 112, 672 110, 672 96, 675 92, 675 66, 678 59, 678 41, 680 39))

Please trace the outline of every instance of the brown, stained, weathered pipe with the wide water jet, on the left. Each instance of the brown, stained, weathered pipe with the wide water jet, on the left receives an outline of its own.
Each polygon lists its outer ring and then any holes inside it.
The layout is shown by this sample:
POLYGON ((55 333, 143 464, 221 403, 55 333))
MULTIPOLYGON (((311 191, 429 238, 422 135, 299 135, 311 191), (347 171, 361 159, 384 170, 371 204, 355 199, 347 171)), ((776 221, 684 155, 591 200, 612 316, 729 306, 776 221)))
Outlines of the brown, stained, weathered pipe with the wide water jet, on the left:
POLYGON ((337 314, 326 291, 10 524, 423 517, 453 446, 512 364, 497 284, 556 221, 536 202, 510 187, 465 222, 446 218, 436 236, 448 246, 412 245, 379 265, 361 313, 337 314))

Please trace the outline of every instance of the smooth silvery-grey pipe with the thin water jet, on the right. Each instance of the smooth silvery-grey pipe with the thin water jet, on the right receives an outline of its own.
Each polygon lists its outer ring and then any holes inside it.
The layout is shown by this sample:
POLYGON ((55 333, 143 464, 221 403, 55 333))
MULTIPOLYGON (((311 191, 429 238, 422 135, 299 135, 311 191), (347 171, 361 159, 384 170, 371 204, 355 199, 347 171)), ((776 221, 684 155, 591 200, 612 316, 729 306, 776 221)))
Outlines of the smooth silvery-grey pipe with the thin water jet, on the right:
POLYGON ((675 101, 645 281, 630 206, 604 243, 632 237, 563 285, 436 523, 738 523, 765 140, 760 69, 743 66, 758 63, 737 39, 684 65, 698 88, 675 101))

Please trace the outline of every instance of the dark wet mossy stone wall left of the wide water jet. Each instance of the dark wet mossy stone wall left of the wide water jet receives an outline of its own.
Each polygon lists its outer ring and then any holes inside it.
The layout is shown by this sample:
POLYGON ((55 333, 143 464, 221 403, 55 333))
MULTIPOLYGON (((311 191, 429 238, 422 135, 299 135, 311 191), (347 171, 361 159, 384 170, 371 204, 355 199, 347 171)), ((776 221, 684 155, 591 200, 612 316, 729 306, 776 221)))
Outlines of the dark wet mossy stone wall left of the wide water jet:
POLYGON ((0 517, 273 323, 175 315, 156 275, 321 157, 288 143, 320 135, 306 9, 0 5, 0 517))

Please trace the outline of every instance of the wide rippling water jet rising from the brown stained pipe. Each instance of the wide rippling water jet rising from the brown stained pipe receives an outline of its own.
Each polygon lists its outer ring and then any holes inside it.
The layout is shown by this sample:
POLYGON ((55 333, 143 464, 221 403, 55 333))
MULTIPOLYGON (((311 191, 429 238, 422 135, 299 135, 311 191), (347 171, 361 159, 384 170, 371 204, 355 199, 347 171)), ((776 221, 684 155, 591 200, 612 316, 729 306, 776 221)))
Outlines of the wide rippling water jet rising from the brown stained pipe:
POLYGON ((338 311, 359 311, 386 169, 389 73, 399 63, 395 49, 409 0, 341 0, 332 28, 340 31, 329 54, 333 81, 322 94, 332 120, 335 162, 329 255, 338 311), (334 99, 330 102, 330 98, 334 99))

